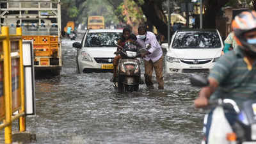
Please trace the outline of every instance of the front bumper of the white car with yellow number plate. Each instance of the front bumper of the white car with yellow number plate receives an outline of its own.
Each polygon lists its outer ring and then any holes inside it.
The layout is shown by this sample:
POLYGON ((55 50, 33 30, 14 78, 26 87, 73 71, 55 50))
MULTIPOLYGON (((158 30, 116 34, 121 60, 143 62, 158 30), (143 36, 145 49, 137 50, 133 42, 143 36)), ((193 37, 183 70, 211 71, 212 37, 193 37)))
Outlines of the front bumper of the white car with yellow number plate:
POLYGON ((112 63, 97 63, 96 61, 79 61, 78 70, 80 73, 85 72, 112 72, 113 64, 112 63))

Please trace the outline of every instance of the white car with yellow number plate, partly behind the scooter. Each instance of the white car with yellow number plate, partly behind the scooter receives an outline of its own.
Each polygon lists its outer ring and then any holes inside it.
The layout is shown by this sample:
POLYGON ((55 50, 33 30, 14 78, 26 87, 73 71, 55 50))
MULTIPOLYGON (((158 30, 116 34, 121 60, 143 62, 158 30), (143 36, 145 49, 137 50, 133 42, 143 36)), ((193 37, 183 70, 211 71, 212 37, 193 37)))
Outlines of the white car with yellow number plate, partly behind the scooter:
POLYGON ((82 42, 75 42, 77 48, 77 72, 112 72, 116 51, 115 41, 122 35, 122 29, 89 29, 82 42))

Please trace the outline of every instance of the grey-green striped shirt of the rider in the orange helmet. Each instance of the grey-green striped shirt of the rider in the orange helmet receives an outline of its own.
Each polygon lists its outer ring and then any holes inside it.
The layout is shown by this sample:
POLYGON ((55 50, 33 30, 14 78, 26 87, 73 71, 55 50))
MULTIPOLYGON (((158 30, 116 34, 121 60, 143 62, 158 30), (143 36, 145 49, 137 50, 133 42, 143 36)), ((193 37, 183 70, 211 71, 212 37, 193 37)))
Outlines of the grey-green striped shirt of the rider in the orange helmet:
POLYGON ((221 56, 211 69, 210 77, 219 83, 213 97, 233 99, 238 106, 244 100, 256 99, 256 62, 250 65, 239 47, 221 56))

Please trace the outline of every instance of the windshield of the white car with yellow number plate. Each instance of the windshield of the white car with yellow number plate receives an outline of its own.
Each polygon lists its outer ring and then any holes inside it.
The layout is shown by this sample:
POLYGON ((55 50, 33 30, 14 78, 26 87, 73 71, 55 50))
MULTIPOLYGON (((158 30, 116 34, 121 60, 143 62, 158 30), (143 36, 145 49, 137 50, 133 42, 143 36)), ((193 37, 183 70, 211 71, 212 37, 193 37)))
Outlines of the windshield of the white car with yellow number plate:
POLYGON ((120 38, 122 33, 88 33, 84 47, 116 47, 115 40, 120 38))

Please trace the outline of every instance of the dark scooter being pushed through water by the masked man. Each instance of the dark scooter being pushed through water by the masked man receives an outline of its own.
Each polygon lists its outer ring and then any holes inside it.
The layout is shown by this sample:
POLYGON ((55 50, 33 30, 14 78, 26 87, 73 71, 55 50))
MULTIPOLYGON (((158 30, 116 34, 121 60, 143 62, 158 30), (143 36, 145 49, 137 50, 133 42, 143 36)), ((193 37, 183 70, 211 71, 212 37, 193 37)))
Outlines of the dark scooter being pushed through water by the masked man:
MULTIPOLYGON (((116 42, 115 42, 116 44, 116 42)), ((116 44, 117 45, 117 44, 116 44)), ((120 45, 117 45, 121 47, 120 45)), ((118 92, 136 92, 140 85, 140 58, 141 53, 145 49, 138 48, 131 42, 126 42, 122 50, 118 52, 122 58, 118 62, 117 82, 113 82, 113 86, 118 92)))

